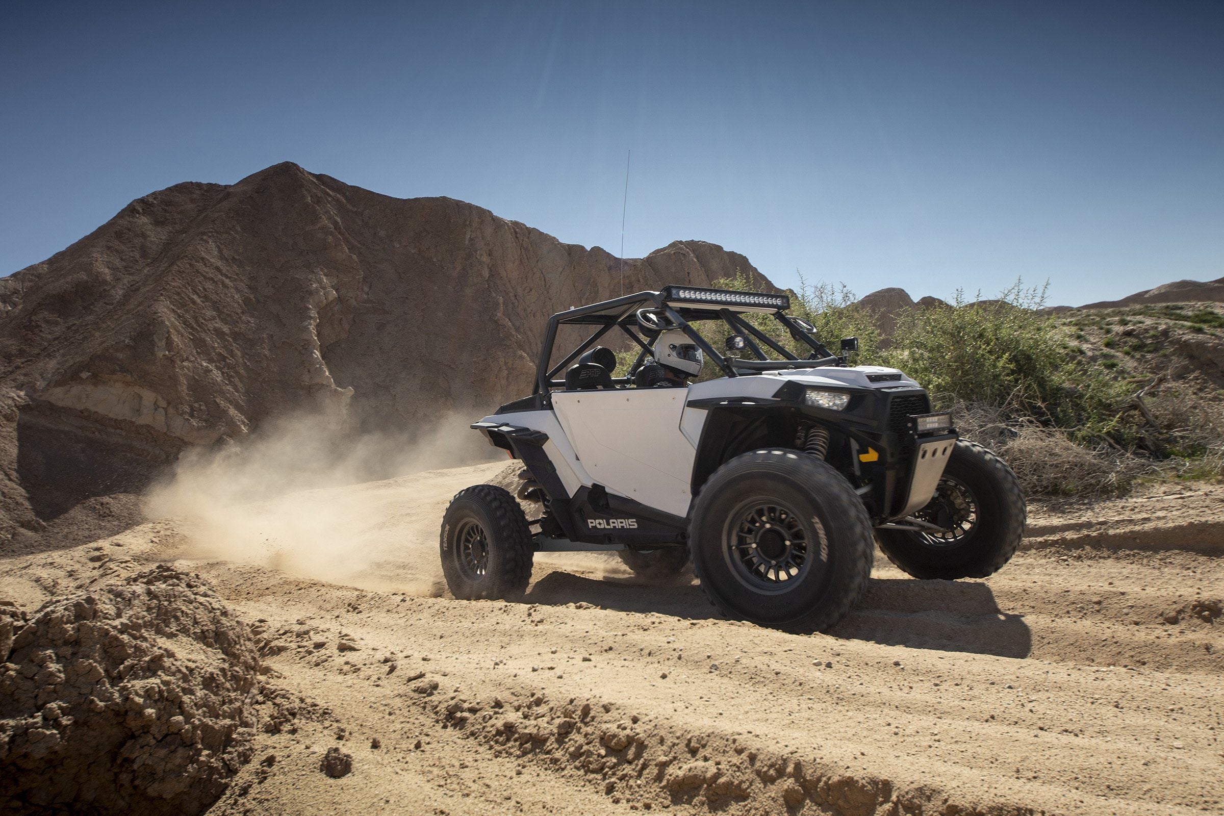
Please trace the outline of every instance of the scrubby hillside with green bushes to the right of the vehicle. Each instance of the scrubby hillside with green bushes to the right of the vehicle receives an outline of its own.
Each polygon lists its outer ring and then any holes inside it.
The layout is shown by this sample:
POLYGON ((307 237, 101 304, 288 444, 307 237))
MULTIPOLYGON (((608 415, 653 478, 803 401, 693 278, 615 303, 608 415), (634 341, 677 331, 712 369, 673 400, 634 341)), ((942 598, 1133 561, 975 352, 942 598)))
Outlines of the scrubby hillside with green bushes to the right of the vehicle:
MULTIPOLYGON (((738 274, 716 285, 755 283, 738 274)), ((792 313, 832 349, 857 336, 856 362, 923 383, 1033 494, 1224 475, 1222 303, 1049 310, 1044 289, 1017 281, 990 300, 958 290, 881 314, 845 285, 800 280, 792 313)), ((772 323, 759 325, 793 344, 772 323)))

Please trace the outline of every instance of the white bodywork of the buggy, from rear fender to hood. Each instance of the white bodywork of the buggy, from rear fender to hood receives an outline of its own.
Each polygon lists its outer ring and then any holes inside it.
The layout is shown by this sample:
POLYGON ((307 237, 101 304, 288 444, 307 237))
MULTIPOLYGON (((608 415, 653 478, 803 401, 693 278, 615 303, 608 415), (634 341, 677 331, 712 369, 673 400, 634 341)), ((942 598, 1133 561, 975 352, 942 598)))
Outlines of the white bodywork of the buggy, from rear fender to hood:
POLYGON ((548 434, 543 450, 565 491, 602 484, 610 493, 685 516, 692 503, 693 462, 709 411, 690 400, 770 398, 786 380, 813 388, 895 388, 917 385, 905 374, 875 382, 868 374, 896 368, 805 368, 747 377, 722 377, 688 388, 618 388, 553 391, 552 411, 485 417, 486 422, 534 428, 548 434))

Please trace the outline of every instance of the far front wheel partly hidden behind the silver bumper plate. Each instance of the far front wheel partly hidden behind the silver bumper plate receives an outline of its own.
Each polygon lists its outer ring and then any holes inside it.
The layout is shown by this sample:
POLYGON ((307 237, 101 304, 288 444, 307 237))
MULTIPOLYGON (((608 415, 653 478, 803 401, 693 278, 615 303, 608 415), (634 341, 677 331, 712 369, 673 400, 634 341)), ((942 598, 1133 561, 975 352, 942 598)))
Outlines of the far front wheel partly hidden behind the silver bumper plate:
POLYGON ((1016 554, 1024 515, 1024 495, 1011 469, 982 445, 961 439, 935 498, 914 514, 951 524, 949 533, 878 530, 876 535, 889 560, 914 577, 985 577, 1016 554))

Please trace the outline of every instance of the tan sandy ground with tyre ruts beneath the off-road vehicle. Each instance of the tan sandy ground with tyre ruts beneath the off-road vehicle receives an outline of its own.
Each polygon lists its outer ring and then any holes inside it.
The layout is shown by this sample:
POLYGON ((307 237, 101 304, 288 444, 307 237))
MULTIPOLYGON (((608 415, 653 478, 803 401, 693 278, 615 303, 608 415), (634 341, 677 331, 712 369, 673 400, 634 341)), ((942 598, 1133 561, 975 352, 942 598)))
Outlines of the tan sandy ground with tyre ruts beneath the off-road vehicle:
POLYGON ((151 562, 213 581, 299 716, 211 814, 1224 812, 1219 487, 1037 509, 983 581, 880 557, 796 636, 600 555, 539 557, 525 603, 444 597, 443 508, 501 467, 312 492, 323 535, 278 505, 228 544, 158 521, 7 558, 0 598, 151 562), (350 774, 319 772, 332 746, 350 774))

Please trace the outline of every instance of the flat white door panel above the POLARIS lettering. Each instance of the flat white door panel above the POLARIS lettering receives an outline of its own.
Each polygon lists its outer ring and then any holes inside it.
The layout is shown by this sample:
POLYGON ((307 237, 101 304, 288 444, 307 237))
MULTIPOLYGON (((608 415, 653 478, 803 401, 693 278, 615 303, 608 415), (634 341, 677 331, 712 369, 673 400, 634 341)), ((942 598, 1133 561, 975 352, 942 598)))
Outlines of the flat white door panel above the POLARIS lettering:
POLYGON ((687 515, 695 448, 681 431, 687 388, 553 391, 579 464, 611 493, 687 515))

